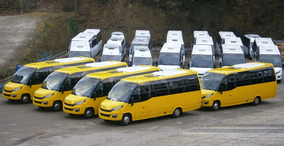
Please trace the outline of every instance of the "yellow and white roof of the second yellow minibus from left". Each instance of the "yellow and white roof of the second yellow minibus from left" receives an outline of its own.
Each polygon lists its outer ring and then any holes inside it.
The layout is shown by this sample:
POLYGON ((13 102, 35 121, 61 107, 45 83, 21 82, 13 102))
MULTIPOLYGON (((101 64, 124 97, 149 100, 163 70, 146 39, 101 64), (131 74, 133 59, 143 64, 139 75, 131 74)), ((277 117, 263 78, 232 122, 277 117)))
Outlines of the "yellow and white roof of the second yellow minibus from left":
POLYGON ((96 70, 96 69, 103 69, 115 66, 127 66, 125 62, 119 61, 105 61, 105 62, 96 62, 96 63, 88 63, 85 65, 73 66, 73 67, 65 67, 56 69, 55 71, 63 72, 66 74, 74 74, 77 72, 89 71, 89 70, 96 70))

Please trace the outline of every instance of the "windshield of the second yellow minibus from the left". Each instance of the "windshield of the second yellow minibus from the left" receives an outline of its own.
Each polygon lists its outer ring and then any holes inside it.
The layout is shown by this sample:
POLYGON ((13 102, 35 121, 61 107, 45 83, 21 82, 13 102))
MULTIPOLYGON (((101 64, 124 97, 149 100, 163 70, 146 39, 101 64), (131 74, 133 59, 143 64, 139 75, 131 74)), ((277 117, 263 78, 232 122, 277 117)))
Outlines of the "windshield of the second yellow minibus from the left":
POLYGON ((48 90, 55 90, 59 91, 59 88, 63 81, 68 77, 69 74, 65 74, 63 72, 52 72, 48 78, 46 78, 42 85, 41 88, 43 89, 48 89, 48 90))

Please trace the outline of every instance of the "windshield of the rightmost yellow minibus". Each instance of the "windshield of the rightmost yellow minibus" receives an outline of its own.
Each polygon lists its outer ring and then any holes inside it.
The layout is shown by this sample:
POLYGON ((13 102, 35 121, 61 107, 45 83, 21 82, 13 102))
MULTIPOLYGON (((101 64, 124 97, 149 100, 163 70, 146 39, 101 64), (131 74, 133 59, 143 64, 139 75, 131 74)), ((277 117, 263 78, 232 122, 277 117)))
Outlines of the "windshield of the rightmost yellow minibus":
POLYGON ((222 82, 225 75, 212 72, 206 72, 201 78, 201 87, 206 90, 218 91, 219 84, 222 82))

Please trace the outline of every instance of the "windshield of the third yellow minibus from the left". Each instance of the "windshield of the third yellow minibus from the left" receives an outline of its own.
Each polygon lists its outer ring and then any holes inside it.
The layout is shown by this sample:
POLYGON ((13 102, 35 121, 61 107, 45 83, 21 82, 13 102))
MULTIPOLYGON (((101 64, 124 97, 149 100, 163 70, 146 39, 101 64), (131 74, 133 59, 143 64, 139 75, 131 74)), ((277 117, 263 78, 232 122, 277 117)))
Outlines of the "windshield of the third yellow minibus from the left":
POLYGON ((94 88, 101 82, 101 79, 84 77, 74 87, 72 94, 91 98, 94 88))

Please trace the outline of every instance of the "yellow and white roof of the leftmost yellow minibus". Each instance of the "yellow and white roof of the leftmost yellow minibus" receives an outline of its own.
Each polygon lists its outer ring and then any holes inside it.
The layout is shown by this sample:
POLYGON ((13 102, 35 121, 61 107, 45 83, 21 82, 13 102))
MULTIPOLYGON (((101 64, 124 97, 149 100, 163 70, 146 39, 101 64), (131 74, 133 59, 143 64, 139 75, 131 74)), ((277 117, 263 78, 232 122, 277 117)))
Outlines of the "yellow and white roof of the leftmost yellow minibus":
POLYGON ((60 59, 55 59, 55 60, 51 60, 51 61, 29 63, 29 64, 25 64, 25 66, 40 69, 40 68, 43 68, 43 67, 52 67, 52 66, 58 66, 58 65, 80 63, 80 62, 89 62, 89 61, 94 62, 94 59, 88 58, 88 57, 60 58, 60 59))

